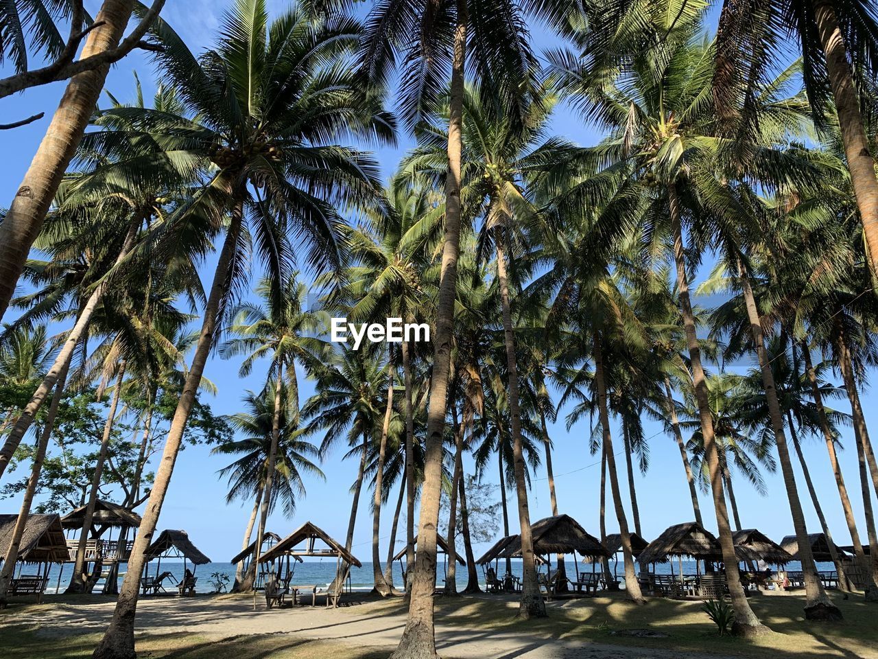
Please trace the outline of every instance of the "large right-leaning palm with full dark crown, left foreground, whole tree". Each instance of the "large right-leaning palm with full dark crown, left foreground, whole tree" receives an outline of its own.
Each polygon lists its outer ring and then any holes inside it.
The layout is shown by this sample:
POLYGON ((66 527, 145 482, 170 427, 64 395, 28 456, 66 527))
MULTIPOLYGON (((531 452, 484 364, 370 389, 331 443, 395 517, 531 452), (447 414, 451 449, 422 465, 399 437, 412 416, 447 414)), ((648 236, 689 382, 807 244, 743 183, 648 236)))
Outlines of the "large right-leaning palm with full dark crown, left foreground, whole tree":
MULTIPOLYGON (((180 91, 187 112, 198 119, 140 109, 112 112, 131 117, 133 126, 147 134, 161 134, 156 145, 162 149, 155 148, 151 159, 185 158, 204 171, 203 185, 166 221, 164 235, 173 235, 176 245, 190 241, 191 250, 202 254, 213 236, 225 235, 129 571, 96 659, 134 656, 133 621, 144 552, 155 532, 214 334, 230 308, 234 283, 245 274, 250 244, 275 286, 290 272, 291 255, 280 235, 301 237, 300 263, 314 269, 338 267, 342 218, 336 208, 375 199, 379 186, 371 159, 335 141, 351 134, 387 137, 391 131, 387 116, 375 107, 377 99, 363 93, 344 66, 358 40, 356 21, 314 20, 293 7, 268 25, 263 0, 240 0, 224 19, 217 46, 198 59, 163 21, 156 22, 153 32, 162 43, 162 73, 180 91)), ((126 164, 136 166, 136 155, 126 164)))

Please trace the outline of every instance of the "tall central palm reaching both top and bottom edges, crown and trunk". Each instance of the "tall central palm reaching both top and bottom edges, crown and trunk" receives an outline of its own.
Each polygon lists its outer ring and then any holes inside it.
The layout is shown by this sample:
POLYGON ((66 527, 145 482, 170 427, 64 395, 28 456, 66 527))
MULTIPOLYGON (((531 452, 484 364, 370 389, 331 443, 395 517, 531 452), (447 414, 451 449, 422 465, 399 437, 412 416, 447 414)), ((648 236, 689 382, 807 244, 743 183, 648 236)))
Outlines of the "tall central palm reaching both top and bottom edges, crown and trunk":
MULTIPOLYGON (((534 3, 536 5, 536 3, 534 3)), ((435 588, 435 530, 439 516, 443 427, 448 409, 457 257, 461 219, 461 154, 464 113, 464 72, 479 69, 486 92, 500 105, 518 107, 529 91, 534 59, 525 41, 525 26, 517 6, 508 0, 495 4, 444 0, 406 3, 382 0, 371 11, 363 42, 363 69, 369 78, 386 83, 397 54, 404 56, 401 104, 409 127, 438 109, 449 89, 449 124, 445 179, 442 270, 436 304, 433 343, 435 358, 430 384, 427 458, 421 491, 421 522, 406 630, 394 657, 435 656, 433 590, 435 588), (497 16, 507 17, 497 20, 497 16), (440 18, 441 17, 441 18, 440 18), (478 29, 472 30, 471 25, 478 29), (467 64, 467 58, 471 61, 467 64), (450 80, 450 84, 449 84, 450 80), (488 88, 491 89, 488 89, 488 88)))

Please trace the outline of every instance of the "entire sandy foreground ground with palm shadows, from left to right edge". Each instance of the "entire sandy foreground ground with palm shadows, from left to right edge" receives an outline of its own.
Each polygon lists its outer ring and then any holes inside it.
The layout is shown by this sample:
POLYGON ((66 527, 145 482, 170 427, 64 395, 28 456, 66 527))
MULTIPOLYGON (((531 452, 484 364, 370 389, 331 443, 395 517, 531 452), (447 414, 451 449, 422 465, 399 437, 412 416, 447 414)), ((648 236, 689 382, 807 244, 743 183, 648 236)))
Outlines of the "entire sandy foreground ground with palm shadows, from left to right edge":
MULTIPOLYGON (((72 638, 82 637, 84 640, 86 637, 97 637, 112 617, 114 602, 111 599, 69 602, 53 602, 52 597, 47 599, 47 604, 14 607, 0 615, 0 630, 4 638, 11 637, 7 633, 12 629, 24 629, 37 639, 48 644, 56 643, 57 647, 62 648, 72 638)), ((786 610, 788 605, 796 606, 799 598, 761 599, 764 600, 762 605, 780 612, 781 607, 786 610)), ((657 613, 661 614, 668 604, 653 602, 650 605, 651 615, 655 617, 657 613)), ((869 648, 870 643, 857 641, 850 628, 846 630, 846 634, 850 635, 844 641, 830 641, 823 636, 825 630, 821 630, 820 634, 815 634, 816 638, 810 637, 808 641, 796 641, 788 633, 774 634, 777 637, 774 643, 770 640, 760 642, 759 647, 749 647, 743 643, 729 644, 715 634, 709 634, 707 626, 703 626, 707 631, 702 633, 677 631, 681 627, 674 627, 675 624, 702 627, 704 617, 696 602, 674 603, 673 616, 676 619, 671 619, 671 626, 644 626, 657 634, 656 638, 629 635, 631 630, 636 629, 636 619, 630 619, 627 613, 630 605, 623 597, 560 600, 550 602, 548 606, 550 618, 547 621, 529 624, 515 620, 516 602, 512 598, 486 595, 440 598, 436 607, 437 649, 443 657, 456 659, 706 659, 761 656, 763 650, 768 651, 766 655, 778 657, 878 656, 874 649, 869 648), (608 623, 607 620, 597 625, 587 624, 603 613, 609 613, 610 620, 620 619, 623 624, 608 623), (694 616, 694 623, 689 622, 687 616, 690 615, 694 616), (699 618, 702 620, 699 621, 699 618), (579 621, 585 621, 586 624, 579 621), (691 635, 693 633, 694 637, 691 635), (595 640, 595 634, 599 635, 599 640, 595 640), (689 645, 693 638, 697 641, 695 648, 698 649, 680 649, 689 645), (772 650, 773 646, 776 652, 772 650)), ((672 612, 669 610, 666 613, 672 612)), ((284 657, 311 656, 304 648, 315 642, 327 643, 329 648, 333 648, 330 650, 332 655, 358 657, 372 656, 369 653, 374 653, 375 656, 387 656, 398 643, 406 618, 401 598, 379 601, 371 597, 357 597, 336 610, 325 608, 322 601, 315 607, 297 605, 267 610, 262 598, 256 600, 254 609, 251 597, 202 596, 143 598, 138 605, 137 621, 139 644, 145 639, 174 639, 185 634, 198 639, 199 646, 212 647, 213 657, 234 656, 242 659, 240 653, 234 650, 235 647, 241 644, 255 647, 260 642, 269 643, 275 651, 284 649, 286 654, 277 654, 284 657)), ((164 644, 169 650, 176 645, 177 641, 164 644)), ((188 654, 185 649, 189 647, 188 642, 179 641, 178 645, 181 651, 167 656, 201 656, 188 654)), ((153 653, 144 655, 163 656, 153 653)))

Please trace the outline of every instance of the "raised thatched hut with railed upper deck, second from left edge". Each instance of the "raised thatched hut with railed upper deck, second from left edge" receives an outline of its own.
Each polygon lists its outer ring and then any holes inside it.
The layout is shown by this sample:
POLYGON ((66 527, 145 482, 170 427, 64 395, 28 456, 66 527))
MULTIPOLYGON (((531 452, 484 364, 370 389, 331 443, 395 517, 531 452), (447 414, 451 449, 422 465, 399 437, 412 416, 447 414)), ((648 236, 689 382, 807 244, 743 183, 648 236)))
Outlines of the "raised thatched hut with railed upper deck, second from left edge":
MULTIPOLYGON (((89 563, 92 564, 91 583, 97 586, 100 579, 104 579, 103 592, 105 595, 119 593, 119 563, 126 563, 134 546, 134 535, 140 527, 140 515, 136 512, 123 508, 118 503, 97 499, 95 512, 91 518, 91 528, 83 529, 86 506, 80 506, 75 511, 69 512, 61 518, 61 526, 67 532, 68 563, 76 562, 76 550, 79 547, 79 539, 83 533, 89 536, 85 544, 86 572, 89 571, 89 563), (113 530, 116 529, 116 538, 113 540, 113 530), (131 533, 131 538, 128 537, 131 533), (106 534, 106 538, 104 538, 106 534), (104 564, 110 567, 106 572, 102 571, 104 564)), ((61 568, 63 571, 63 566, 61 568)), ((61 575, 58 575, 59 582, 61 575)))

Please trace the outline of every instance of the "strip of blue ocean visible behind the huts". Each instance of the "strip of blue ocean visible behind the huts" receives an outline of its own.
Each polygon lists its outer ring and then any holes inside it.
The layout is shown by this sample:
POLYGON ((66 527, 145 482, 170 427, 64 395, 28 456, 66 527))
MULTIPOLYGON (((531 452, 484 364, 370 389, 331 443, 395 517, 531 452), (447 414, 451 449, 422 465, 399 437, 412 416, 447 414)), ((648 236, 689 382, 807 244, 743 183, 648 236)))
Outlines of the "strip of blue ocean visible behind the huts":
MULTIPOLYGON (((553 561, 554 566, 554 561, 553 561)), ((149 564, 148 574, 155 575, 155 567, 156 563, 153 561, 149 564)), ((191 563, 187 565, 191 569, 191 563)), ((443 569, 443 562, 439 562, 439 566, 436 570, 436 586, 442 587, 444 585, 445 573, 443 569)), ((125 564, 122 565, 121 571, 124 573, 125 564)), ((565 561, 565 568, 567 570, 568 576, 572 578, 575 574, 573 562, 571 560, 565 561)), ((672 563, 659 563, 656 565, 656 572, 658 574, 671 574, 673 568, 673 573, 676 574, 679 572, 679 564, 675 560, 672 563)), ((800 569, 798 562, 790 563, 787 566, 790 570, 800 569)), ((543 568, 544 569, 544 568, 543 568)), ((595 566, 597 571, 601 570, 600 565, 595 566)), ((834 569, 831 563, 817 563, 818 570, 831 570, 834 569)), ((184 573, 184 564, 183 562, 171 562, 171 561, 162 561, 162 565, 160 568, 160 572, 169 571, 176 581, 179 581, 183 578, 184 573)), ((231 588, 232 583, 234 583, 234 565, 230 563, 206 563, 205 565, 199 565, 195 569, 195 576, 198 577, 198 582, 196 583, 195 590, 199 593, 210 593, 216 591, 216 586, 212 583, 217 577, 215 575, 224 575, 228 576, 227 589, 231 588)), ((614 571, 615 574, 619 576, 623 576, 625 573, 625 567, 622 561, 619 561, 618 564, 615 561, 610 561, 610 571, 614 571)), ((579 563, 579 571, 580 572, 591 572, 592 565, 590 563, 579 563)), ((63 592, 67 588, 67 584, 70 580, 70 575, 73 572, 73 566, 70 563, 67 563, 63 566, 53 565, 49 570, 49 582, 47 585, 46 592, 47 593, 56 593, 59 588, 61 592, 63 592), (59 568, 62 567, 63 571, 59 568), (59 582, 59 576, 61 576, 59 582)), ((512 572, 515 576, 522 575, 522 561, 512 561, 512 572)), ((683 572, 685 574, 694 574, 695 572, 695 563, 694 561, 683 561, 683 572)), ((28 568, 24 568, 24 574, 28 573, 28 568)), ((500 566, 498 569, 498 573, 503 575, 506 573, 506 568, 503 564, 503 561, 500 561, 500 566)), ((123 575, 119 576, 119 584, 121 584, 121 579, 123 575)), ((291 583, 316 583, 321 588, 325 588, 329 583, 332 582, 335 577, 335 560, 327 560, 327 561, 313 561, 313 560, 305 560, 301 563, 296 563, 295 572, 293 573, 291 583)), ((457 566, 457 588, 463 590, 466 586, 466 568, 463 566, 457 566)), ((350 584, 353 590, 361 590, 368 591, 372 589, 372 584, 374 583, 372 577, 372 564, 363 563, 362 568, 352 567, 350 569, 350 584)), ((479 583, 484 587, 485 585, 485 574, 482 568, 479 567, 479 583)), ((402 572, 399 566, 399 561, 394 561, 393 563, 393 584, 397 589, 401 590, 403 585, 402 572)), ((173 585, 169 584, 169 591, 175 590, 173 585)))

